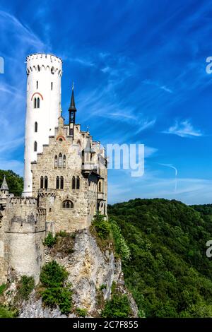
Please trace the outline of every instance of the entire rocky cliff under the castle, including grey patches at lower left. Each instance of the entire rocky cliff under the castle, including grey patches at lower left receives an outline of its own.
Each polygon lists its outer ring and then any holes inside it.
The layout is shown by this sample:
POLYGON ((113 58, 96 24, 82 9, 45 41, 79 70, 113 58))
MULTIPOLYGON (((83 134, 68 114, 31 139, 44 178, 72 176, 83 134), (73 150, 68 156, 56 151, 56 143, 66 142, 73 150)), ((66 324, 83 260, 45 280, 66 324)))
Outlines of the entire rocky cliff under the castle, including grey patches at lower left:
MULTIPOLYGON (((100 249, 89 230, 81 230, 71 237, 61 237, 52 248, 45 249, 45 261, 57 261, 69 273, 67 283, 71 283, 73 310, 69 317, 76 316, 74 309, 86 309, 86 316, 98 317, 105 302, 110 300, 114 285, 120 294, 126 294, 131 307, 131 316, 138 316, 134 299, 124 285, 122 263, 114 258, 109 246, 100 249)), ((13 302, 16 282, 6 291, 6 304, 13 302)), ((19 304, 20 317, 66 317, 59 307, 44 307, 36 289, 27 301, 19 304)))

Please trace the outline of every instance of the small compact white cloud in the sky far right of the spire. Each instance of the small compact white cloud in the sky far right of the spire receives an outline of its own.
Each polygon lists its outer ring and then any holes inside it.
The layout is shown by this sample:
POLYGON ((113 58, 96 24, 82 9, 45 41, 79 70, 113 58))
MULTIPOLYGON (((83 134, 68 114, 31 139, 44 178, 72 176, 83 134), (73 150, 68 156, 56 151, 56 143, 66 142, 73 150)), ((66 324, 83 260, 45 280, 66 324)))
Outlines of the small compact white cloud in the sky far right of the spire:
POLYGON ((163 131, 164 134, 175 134, 181 137, 199 137, 204 134, 200 129, 194 129, 189 120, 175 121, 174 126, 170 126, 169 129, 163 131))

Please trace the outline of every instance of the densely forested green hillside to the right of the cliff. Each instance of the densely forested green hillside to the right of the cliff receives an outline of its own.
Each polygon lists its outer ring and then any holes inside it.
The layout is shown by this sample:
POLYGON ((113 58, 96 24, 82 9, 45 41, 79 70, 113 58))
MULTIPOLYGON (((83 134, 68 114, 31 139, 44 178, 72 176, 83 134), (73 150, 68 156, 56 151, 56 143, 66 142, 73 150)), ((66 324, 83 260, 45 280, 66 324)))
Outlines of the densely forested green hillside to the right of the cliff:
POLYGON ((212 316, 211 206, 134 199, 109 206, 131 250, 124 279, 146 317, 212 316))

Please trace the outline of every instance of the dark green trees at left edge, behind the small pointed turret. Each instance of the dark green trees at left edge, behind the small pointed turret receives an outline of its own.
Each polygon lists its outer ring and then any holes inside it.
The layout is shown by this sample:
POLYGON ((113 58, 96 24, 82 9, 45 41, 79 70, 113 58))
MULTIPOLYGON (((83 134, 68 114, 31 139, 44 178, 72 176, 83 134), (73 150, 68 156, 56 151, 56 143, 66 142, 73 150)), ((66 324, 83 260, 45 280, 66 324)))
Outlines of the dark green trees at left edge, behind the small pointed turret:
POLYGON ((0 170, 0 186, 3 182, 4 175, 6 176, 6 182, 8 184, 10 194, 20 196, 23 191, 23 177, 20 177, 11 170, 0 170))

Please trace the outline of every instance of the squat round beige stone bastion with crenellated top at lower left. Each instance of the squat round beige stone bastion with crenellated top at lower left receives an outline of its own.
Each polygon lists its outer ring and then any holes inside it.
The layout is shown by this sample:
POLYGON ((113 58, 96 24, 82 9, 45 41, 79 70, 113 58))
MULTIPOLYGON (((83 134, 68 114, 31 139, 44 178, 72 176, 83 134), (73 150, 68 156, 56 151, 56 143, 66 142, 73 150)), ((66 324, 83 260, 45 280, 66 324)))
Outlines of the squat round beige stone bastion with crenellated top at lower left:
POLYGON ((36 198, 8 198, 1 238, 4 275, 11 266, 17 275, 33 276, 38 283, 44 264, 45 215, 36 198))

